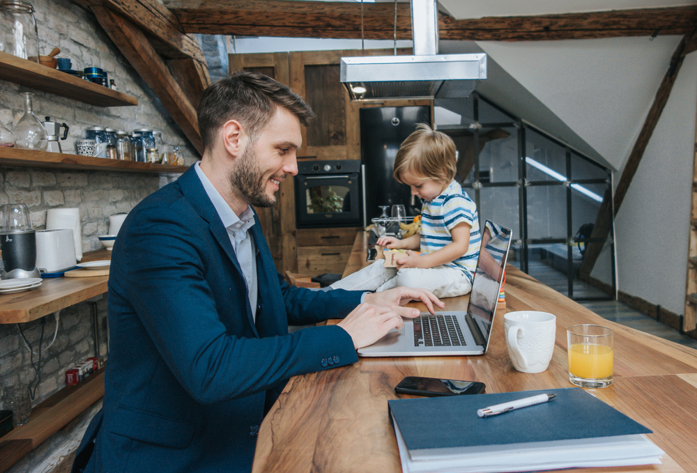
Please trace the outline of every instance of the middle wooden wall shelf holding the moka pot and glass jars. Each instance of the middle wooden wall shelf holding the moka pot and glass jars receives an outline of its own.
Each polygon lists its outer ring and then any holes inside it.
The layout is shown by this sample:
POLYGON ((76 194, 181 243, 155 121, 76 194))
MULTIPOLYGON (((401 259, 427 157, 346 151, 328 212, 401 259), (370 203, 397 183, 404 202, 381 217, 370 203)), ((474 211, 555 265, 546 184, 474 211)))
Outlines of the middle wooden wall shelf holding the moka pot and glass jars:
POLYGON ((47 151, 0 147, 0 166, 49 167, 56 169, 82 169, 93 171, 119 171, 130 173, 183 173, 188 166, 107 160, 102 157, 49 153, 47 151))

